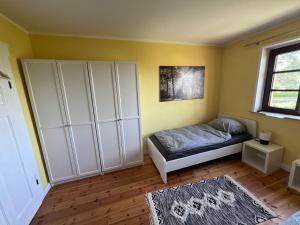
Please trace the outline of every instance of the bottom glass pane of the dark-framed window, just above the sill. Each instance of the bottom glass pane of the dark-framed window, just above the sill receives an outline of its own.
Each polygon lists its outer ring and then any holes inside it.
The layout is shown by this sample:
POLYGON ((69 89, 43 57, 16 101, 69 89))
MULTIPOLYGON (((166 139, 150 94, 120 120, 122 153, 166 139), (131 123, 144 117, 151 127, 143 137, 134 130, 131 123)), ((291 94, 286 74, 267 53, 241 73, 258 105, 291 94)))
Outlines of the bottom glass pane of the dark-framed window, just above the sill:
POLYGON ((272 91, 269 106, 282 109, 296 109, 297 91, 272 91))

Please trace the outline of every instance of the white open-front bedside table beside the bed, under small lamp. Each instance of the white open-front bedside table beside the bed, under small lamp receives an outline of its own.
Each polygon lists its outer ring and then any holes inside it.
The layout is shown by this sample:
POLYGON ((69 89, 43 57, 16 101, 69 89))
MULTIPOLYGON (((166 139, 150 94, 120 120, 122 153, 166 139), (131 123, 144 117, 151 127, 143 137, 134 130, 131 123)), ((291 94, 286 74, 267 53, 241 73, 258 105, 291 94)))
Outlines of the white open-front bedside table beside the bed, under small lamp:
POLYGON ((265 174, 270 174, 278 170, 281 166, 283 147, 275 144, 262 145, 256 140, 243 143, 242 161, 260 170, 265 174))

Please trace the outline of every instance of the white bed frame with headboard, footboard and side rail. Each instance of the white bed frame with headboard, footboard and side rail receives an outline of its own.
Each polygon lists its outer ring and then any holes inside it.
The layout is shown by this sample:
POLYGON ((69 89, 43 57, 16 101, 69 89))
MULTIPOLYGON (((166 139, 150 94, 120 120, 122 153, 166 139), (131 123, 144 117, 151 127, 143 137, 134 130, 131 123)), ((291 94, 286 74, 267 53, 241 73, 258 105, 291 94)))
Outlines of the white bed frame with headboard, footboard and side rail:
MULTIPOLYGON (((256 121, 243 119, 239 117, 232 117, 219 114, 218 118, 232 118, 242 122, 248 129, 248 133, 253 137, 256 137, 256 121)), ((148 153, 152 158, 157 170, 160 173, 161 179, 164 183, 167 183, 167 173, 175 170, 179 170, 185 167, 193 166, 199 163, 207 162, 213 159, 221 158, 227 155, 232 155, 242 151, 243 143, 229 145, 223 148, 218 148, 208 152, 202 152, 191 156, 186 156, 179 159, 166 161, 156 146, 148 138, 148 153)))

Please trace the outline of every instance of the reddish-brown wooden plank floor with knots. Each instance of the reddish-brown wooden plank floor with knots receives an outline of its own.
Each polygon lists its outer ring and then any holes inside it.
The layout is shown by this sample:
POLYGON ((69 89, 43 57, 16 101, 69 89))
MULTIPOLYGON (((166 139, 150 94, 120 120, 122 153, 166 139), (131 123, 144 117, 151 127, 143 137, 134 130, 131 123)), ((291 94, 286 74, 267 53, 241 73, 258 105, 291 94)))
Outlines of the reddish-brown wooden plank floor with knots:
POLYGON ((280 216, 278 224, 300 210, 300 194, 287 188, 288 173, 270 176, 242 163, 237 156, 172 172, 163 184, 151 159, 145 165, 56 186, 46 196, 32 224, 149 224, 145 193, 174 185, 229 174, 280 216))

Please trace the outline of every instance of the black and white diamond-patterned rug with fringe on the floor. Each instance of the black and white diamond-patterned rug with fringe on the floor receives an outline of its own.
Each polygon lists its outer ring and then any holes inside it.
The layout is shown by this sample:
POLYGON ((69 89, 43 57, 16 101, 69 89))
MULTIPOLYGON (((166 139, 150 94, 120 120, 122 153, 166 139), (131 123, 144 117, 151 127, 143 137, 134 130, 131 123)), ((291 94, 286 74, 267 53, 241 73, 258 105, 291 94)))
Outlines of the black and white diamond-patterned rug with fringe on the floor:
POLYGON ((154 225, 254 225, 276 214, 230 176, 147 194, 154 225))

